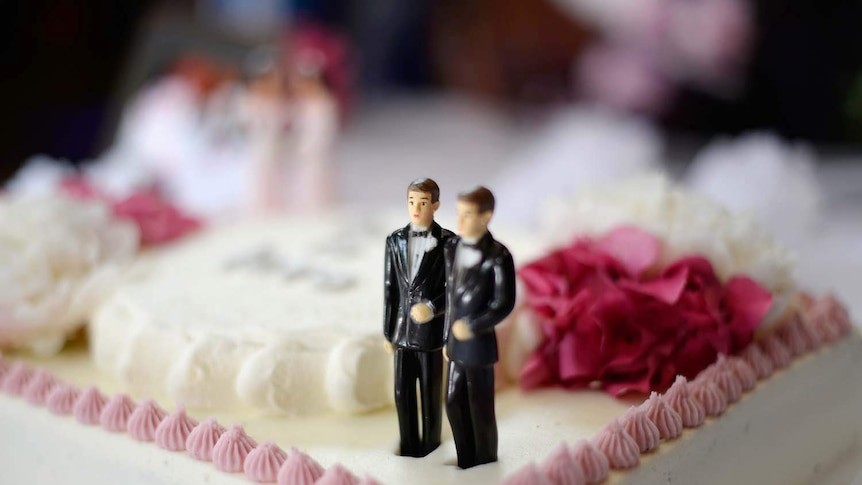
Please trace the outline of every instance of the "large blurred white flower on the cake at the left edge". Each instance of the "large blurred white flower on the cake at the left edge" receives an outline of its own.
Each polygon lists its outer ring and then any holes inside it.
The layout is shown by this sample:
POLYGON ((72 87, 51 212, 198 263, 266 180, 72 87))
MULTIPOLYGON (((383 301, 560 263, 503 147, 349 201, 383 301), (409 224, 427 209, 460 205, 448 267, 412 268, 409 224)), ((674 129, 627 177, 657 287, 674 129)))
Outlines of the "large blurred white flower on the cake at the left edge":
POLYGON ((0 199, 0 346, 59 351, 137 249, 137 229, 102 204, 0 199))

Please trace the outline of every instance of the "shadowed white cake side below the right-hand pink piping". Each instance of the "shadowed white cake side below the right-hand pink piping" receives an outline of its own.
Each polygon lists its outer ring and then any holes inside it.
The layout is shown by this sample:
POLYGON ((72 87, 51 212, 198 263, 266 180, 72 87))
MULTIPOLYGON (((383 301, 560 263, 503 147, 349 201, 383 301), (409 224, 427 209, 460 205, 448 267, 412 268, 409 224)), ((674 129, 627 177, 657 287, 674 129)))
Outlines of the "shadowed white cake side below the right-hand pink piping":
POLYGON ((642 456, 608 483, 823 483, 859 451, 862 341, 798 359, 702 427, 642 456))

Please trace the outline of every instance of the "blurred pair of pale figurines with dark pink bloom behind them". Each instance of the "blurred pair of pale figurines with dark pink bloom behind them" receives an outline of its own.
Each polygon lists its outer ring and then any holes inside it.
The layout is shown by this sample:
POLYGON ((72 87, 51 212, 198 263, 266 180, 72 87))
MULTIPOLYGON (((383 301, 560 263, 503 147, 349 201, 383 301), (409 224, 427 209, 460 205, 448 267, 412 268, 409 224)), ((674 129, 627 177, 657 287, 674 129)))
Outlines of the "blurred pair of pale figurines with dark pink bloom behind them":
POLYGON ((257 119, 250 134, 248 201, 253 213, 330 208, 335 195, 333 150, 345 92, 343 46, 327 32, 305 26, 271 54, 249 86, 257 119), (336 63, 338 65, 336 65, 336 63), (332 81, 330 81, 332 79, 332 81))

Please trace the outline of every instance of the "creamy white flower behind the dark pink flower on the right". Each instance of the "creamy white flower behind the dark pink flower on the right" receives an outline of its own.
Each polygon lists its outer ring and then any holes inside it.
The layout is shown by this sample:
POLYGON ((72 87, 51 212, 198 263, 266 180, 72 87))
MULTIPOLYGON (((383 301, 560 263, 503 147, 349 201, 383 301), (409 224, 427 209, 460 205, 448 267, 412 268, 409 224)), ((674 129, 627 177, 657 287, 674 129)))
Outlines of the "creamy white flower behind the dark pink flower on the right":
POLYGON ((795 293, 794 257, 753 219, 674 187, 663 176, 631 179, 557 199, 542 216, 542 232, 553 244, 568 244, 575 237, 598 236, 629 224, 661 241, 659 267, 699 254, 709 259, 723 281, 747 275, 772 293, 765 324, 781 315, 795 293))

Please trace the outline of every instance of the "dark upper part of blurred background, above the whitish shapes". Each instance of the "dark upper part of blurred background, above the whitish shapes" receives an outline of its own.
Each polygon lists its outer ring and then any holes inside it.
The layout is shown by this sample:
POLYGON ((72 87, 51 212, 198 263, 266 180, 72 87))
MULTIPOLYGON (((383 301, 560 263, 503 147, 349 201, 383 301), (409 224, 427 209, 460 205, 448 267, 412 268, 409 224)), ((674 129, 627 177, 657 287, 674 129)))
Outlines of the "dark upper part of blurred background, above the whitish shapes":
POLYGON ((96 158, 154 79, 182 73, 205 95, 247 77, 251 50, 309 26, 335 45, 327 83, 349 117, 456 95, 529 128, 595 102, 695 145, 757 129, 852 149, 860 24, 856 0, 6 1, 0 169, 96 158))

